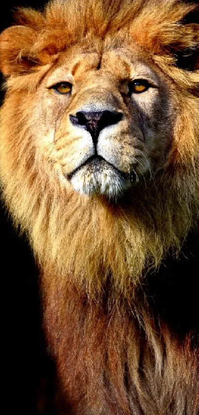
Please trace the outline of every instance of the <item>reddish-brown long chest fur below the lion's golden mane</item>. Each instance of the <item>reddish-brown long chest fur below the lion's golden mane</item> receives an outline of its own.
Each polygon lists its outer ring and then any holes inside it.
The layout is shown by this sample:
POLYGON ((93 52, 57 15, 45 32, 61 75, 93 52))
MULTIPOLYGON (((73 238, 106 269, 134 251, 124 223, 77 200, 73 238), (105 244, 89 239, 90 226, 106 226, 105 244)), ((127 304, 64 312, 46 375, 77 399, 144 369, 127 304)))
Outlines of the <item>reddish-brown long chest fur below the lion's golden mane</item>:
POLYGON ((157 324, 141 291, 132 305, 109 284, 92 299, 73 282, 63 290, 51 275, 42 281, 44 325, 71 404, 67 413, 198 414, 191 337, 181 343, 157 324))

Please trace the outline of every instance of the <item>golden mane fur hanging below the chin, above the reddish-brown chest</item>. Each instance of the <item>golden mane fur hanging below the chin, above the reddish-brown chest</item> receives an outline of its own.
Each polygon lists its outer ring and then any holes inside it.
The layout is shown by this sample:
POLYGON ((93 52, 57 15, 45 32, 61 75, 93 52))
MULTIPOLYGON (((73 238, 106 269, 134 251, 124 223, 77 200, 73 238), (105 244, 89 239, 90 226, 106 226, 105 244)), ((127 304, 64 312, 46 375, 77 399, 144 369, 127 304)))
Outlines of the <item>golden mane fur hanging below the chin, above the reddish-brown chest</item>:
POLYGON ((82 200, 75 194, 68 201, 65 194, 58 200, 60 191, 56 197, 54 187, 52 199, 48 196, 48 222, 40 218, 33 227, 41 265, 53 266, 64 280, 70 275, 77 284, 85 283, 91 292, 101 289, 111 276, 116 289, 126 293, 131 287, 132 295, 141 276, 149 268, 157 268, 169 249, 179 251, 196 220, 183 197, 176 199, 173 194, 171 200, 166 189, 164 196, 159 187, 153 190, 151 200, 149 194, 141 195, 147 192, 143 184, 130 204, 117 207, 96 199, 82 200))

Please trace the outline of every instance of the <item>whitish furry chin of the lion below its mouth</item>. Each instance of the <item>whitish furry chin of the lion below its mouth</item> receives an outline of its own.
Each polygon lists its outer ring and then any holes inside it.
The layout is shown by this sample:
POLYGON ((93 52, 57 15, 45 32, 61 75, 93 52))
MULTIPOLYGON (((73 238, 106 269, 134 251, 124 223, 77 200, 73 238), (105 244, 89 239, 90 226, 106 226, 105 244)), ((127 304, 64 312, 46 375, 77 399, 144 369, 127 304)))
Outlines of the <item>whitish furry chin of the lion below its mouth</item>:
POLYGON ((98 158, 82 165, 70 175, 69 180, 80 194, 102 195, 112 200, 122 197, 132 185, 128 175, 98 158))

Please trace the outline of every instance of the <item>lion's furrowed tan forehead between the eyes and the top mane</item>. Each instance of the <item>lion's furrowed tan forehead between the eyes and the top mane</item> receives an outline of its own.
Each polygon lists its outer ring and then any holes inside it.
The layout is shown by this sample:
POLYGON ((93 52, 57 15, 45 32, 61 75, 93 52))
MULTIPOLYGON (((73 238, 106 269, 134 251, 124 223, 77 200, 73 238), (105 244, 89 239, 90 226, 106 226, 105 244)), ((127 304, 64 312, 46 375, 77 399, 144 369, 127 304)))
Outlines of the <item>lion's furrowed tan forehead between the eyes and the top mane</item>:
POLYGON ((146 77, 161 83, 158 68, 136 44, 118 48, 109 45, 104 50, 92 45, 76 45, 60 54, 58 63, 46 77, 46 86, 63 80, 73 83, 74 79, 89 84, 93 71, 97 84, 102 77, 112 82, 146 77))

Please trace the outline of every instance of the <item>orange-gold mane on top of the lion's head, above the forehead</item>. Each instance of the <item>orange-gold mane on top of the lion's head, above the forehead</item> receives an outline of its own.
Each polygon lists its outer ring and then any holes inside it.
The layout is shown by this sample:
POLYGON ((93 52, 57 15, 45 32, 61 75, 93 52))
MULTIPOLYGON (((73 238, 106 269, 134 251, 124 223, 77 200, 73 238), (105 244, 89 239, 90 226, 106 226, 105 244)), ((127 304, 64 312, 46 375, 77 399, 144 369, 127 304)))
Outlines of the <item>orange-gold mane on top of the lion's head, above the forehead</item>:
MULTIPOLYGON (((156 0, 128 2, 88 0, 81 3, 79 0, 54 0, 47 3, 43 12, 31 8, 19 8, 15 14, 16 24, 28 30, 24 30, 23 34, 20 33, 20 38, 16 36, 12 39, 11 50, 9 40, 7 39, 6 44, 5 37, 4 44, 1 46, 1 64, 9 59, 9 53, 12 64, 14 64, 13 52, 16 53, 16 58, 21 57, 19 39, 22 56, 25 53, 27 57, 28 52, 29 58, 38 58, 41 52, 56 54, 74 43, 81 42, 87 36, 105 39, 107 34, 116 37, 117 32, 122 33, 122 30, 126 32, 127 29, 130 30, 134 41, 151 53, 165 56, 167 59, 170 55, 170 63, 172 63, 174 59, 172 52, 198 47, 197 25, 183 25, 184 17, 191 12, 197 13, 195 4, 185 5, 176 0, 164 1, 161 10, 156 0), (140 28, 144 30, 140 31, 140 28)), ((17 35, 16 30, 15 35, 17 35)), ((16 65, 18 72, 19 62, 16 61, 16 65)))

